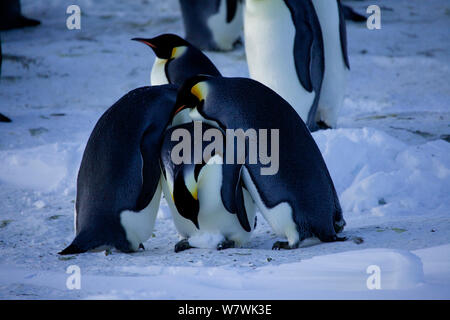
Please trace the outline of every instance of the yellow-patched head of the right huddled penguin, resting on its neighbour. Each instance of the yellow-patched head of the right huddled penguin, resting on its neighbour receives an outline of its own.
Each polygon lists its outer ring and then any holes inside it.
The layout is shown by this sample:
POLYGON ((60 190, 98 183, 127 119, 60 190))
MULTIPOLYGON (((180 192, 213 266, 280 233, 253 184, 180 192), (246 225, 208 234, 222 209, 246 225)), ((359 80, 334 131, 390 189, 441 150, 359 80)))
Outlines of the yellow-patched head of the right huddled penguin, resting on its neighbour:
POLYGON ((172 117, 184 109, 200 109, 208 94, 206 82, 211 78, 213 77, 201 74, 187 79, 178 90, 172 117))

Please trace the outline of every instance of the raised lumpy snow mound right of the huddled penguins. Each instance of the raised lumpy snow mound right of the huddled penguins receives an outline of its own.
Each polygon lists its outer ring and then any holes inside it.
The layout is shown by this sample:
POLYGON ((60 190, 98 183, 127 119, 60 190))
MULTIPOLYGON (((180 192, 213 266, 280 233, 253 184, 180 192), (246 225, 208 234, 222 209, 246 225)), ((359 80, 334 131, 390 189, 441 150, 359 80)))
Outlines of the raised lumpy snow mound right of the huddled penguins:
POLYGON ((448 214, 449 143, 408 146, 370 128, 326 130, 314 138, 344 211, 384 216, 418 214, 425 208, 448 214))

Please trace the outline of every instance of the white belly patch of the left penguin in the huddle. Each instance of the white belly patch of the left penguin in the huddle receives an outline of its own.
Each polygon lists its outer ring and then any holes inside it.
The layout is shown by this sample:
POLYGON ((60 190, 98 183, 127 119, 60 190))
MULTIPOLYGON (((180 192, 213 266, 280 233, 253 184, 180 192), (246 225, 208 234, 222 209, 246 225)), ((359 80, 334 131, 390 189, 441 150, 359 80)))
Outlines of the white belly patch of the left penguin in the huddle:
POLYGON ((120 214, 120 223, 134 251, 152 235, 160 200, 161 182, 158 183, 155 194, 146 208, 139 212, 125 210, 120 214))

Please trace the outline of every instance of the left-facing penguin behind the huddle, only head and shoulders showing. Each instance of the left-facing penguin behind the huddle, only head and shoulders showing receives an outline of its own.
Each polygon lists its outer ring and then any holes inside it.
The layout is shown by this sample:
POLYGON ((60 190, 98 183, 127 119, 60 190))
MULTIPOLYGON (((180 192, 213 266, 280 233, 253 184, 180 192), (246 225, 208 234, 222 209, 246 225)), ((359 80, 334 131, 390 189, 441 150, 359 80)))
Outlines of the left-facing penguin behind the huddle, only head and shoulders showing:
POLYGON ((133 38, 148 45, 156 54, 150 82, 152 85, 176 84, 197 74, 220 76, 211 60, 195 46, 175 34, 155 38, 133 38))

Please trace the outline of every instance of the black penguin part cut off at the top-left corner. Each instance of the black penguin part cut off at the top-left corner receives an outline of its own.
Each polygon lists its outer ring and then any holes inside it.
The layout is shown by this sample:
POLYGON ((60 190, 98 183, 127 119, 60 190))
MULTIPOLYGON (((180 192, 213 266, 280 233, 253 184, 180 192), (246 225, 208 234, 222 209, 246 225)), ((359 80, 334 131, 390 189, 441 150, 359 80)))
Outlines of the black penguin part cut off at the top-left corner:
POLYGON ((0 1, 0 30, 34 27, 40 22, 22 15, 20 0, 0 1))

